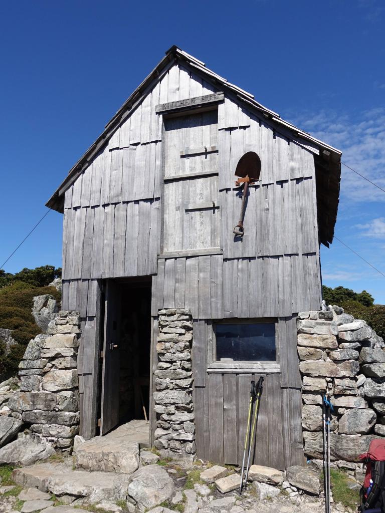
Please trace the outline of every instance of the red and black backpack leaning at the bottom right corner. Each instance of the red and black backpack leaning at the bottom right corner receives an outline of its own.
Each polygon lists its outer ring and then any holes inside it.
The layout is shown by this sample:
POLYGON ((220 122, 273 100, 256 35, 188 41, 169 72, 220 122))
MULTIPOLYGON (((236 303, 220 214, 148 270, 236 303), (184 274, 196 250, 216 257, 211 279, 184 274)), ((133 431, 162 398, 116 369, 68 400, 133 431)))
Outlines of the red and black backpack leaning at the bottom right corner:
POLYGON ((362 463, 367 465, 367 471, 360 491, 361 505, 358 509, 365 511, 380 508, 383 511, 385 505, 385 440, 378 438, 372 440, 368 452, 361 454, 359 458, 362 463))

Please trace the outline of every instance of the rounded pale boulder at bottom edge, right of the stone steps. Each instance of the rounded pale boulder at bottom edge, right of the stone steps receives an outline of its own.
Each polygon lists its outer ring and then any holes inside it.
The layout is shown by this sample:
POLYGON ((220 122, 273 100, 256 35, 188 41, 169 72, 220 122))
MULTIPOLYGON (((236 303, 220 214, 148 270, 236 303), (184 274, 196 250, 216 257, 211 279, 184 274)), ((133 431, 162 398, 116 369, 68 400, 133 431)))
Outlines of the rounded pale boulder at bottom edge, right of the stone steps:
POLYGON ((174 481, 160 465, 147 465, 134 472, 127 488, 129 497, 144 511, 171 499, 174 481))

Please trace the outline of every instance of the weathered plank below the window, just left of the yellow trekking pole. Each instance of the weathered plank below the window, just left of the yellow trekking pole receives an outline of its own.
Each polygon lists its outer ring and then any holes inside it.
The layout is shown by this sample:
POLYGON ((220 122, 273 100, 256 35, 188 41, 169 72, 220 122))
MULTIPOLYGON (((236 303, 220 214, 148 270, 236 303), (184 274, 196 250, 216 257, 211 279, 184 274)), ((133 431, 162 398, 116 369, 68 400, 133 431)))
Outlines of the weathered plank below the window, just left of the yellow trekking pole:
POLYGON ((238 464, 236 374, 223 374, 223 462, 238 464))

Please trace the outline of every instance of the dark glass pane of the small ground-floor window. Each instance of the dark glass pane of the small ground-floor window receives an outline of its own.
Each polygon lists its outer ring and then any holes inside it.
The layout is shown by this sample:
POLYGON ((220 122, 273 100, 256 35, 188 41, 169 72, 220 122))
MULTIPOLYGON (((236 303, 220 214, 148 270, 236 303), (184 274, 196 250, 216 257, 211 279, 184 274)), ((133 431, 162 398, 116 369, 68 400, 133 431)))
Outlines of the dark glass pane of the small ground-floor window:
POLYGON ((217 362, 275 362, 274 323, 218 323, 217 362))

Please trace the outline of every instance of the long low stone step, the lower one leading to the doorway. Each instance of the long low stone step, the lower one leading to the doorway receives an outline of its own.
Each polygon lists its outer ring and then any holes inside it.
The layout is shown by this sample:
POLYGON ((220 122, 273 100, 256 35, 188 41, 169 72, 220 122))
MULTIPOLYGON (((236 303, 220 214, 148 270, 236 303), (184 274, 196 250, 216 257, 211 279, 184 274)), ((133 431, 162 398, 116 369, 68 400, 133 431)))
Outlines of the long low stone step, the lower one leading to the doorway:
POLYGON ((12 479, 23 487, 49 491, 66 502, 97 503, 104 500, 119 500, 127 497, 129 476, 112 472, 87 472, 73 470, 72 462, 41 463, 25 468, 16 468, 12 479))

